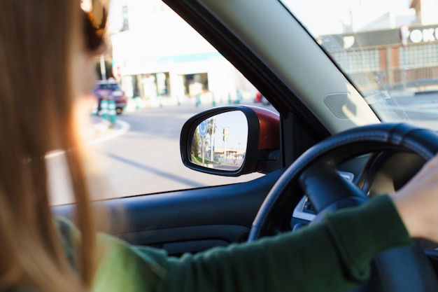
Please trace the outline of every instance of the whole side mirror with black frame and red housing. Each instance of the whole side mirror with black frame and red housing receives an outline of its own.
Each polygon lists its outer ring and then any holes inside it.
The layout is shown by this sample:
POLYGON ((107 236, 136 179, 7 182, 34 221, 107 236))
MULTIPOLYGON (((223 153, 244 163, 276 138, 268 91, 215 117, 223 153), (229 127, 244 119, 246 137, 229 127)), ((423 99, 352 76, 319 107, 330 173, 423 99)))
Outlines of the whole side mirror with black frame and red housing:
POLYGON ((199 172, 239 176, 281 167, 272 167, 281 164, 279 116, 255 106, 198 113, 183 125, 180 142, 184 165, 199 172))

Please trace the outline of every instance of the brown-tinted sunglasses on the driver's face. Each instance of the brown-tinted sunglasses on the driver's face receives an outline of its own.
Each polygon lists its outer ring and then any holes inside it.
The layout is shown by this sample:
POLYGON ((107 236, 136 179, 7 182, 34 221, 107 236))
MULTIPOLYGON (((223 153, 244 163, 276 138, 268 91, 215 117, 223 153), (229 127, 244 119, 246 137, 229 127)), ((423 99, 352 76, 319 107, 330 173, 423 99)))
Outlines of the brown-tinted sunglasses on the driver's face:
POLYGON ((104 41, 106 20, 108 17, 108 0, 89 0, 82 2, 83 29, 85 45, 90 50, 96 50, 104 41))

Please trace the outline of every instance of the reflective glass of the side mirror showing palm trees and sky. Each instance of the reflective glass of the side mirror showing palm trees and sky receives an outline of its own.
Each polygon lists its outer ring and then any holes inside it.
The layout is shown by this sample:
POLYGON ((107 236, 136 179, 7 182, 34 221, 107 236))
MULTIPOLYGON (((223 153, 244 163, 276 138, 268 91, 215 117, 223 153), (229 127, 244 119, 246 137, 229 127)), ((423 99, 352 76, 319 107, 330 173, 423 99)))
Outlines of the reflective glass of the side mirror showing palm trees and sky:
POLYGON ((223 171, 243 165, 248 141, 248 122, 241 111, 228 111, 203 120, 192 139, 190 161, 223 171))

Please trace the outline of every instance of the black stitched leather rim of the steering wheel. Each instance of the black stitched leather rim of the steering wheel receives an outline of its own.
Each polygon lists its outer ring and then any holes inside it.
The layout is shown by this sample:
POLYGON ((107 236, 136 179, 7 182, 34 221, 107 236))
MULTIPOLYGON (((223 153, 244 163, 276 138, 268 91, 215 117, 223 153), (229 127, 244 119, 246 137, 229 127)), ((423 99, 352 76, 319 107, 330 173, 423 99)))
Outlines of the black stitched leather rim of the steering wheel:
POLYGON ((268 222, 271 211, 284 201, 281 198, 284 194, 297 191, 299 177, 311 165, 324 163, 325 168, 335 167, 349 158, 383 150, 411 151, 426 161, 438 153, 438 134, 406 123, 381 123, 355 127, 321 141, 295 160, 275 183, 253 221, 248 241, 269 234, 265 231, 271 226, 268 222))

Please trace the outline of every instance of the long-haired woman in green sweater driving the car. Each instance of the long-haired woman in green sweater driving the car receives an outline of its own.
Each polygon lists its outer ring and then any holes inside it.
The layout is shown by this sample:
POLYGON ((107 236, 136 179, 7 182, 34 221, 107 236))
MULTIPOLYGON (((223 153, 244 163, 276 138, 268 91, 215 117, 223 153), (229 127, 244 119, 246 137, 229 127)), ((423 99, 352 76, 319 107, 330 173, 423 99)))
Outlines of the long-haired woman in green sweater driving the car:
POLYGON ((96 79, 94 57, 105 50, 104 7, 0 1, 1 291, 348 291, 367 281, 381 251, 411 246, 413 237, 438 242, 438 158, 391 196, 195 256, 172 258, 97 232, 78 119, 96 79), (64 151, 74 225, 50 211, 45 155, 54 150, 64 151))

